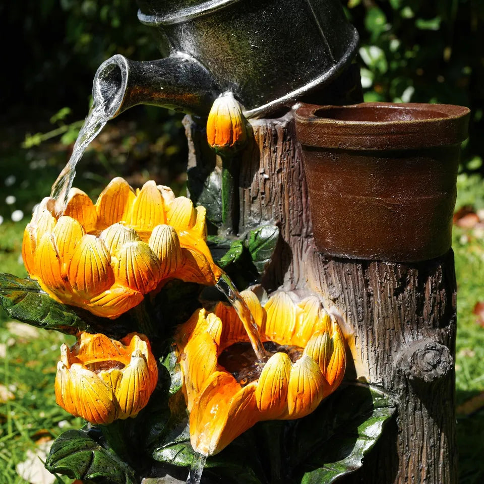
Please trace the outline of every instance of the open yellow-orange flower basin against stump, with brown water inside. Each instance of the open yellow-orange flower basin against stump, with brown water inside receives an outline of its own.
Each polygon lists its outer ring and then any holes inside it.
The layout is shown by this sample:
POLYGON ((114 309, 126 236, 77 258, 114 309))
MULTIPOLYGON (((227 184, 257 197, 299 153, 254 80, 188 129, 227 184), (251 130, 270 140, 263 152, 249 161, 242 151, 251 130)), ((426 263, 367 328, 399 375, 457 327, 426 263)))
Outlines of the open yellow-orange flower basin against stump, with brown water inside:
POLYGON ((220 452, 258 421, 308 415, 344 375, 343 335, 316 297, 294 304, 287 293, 278 292, 262 308, 251 291, 241 295, 262 341, 290 347, 286 353, 279 346, 260 376, 244 386, 246 382, 233 376, 233 368, 230 373, 222 365, 229 358, 219 359, 229 346, 249 341, 232 308, 220 302, 213 313, 201 309, 180 326, 175 342, 190 410, 191 443, 204 455, 220 452))

